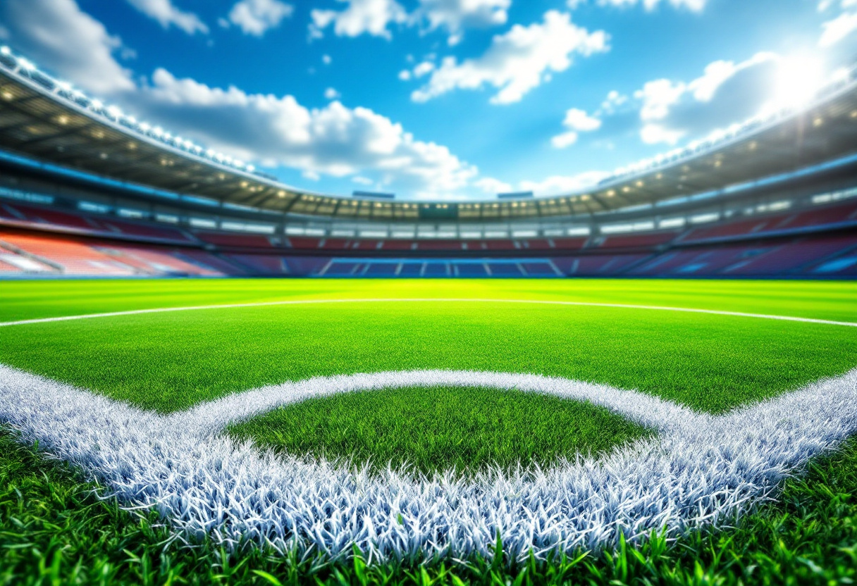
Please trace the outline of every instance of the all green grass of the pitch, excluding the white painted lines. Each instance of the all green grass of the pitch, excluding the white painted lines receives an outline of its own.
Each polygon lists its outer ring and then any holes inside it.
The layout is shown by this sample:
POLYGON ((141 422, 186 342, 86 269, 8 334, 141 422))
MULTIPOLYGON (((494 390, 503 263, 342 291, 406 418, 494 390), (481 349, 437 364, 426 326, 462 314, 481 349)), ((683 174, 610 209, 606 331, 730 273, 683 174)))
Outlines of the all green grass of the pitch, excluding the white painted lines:
MULTIPOLYGON (((857 322, 857 284, 746 281, 0 282, 0 321, 283 299, 459 297, 710 308, 857 322)), ((857 366, 857 328, 628 308, 369 303, 213 309, 0 327, 0 362, 170 412, 321 374, 455 368, 563 376, 722 413, 857 366)), ((365 392, 236 428, 292 453, 428 471, 604 451, 642 430, 587 404, 479 389, 365 392), (448 399, 448 400, 445 400, 448 399), (482 412, 484 411, 484 412, 482 412), (464 414, 467 414, 466 419, 464 414), (458 418, 458 419, 457 419, 458 418), (481 418, 481 419, 480 419, 481 418), (471 422, 471 428, 461 428, 471 422), (386 426, 386 427, 385 427, 386 426), (434 426, 434 427, 432 427, 434 426), (492 428, 493 427, 493 428, 492 428), (551 434, 561 428, 568 434, 551 434), (536 433, 533 433, 536 430, 536 433), (515 435, 518 434, 518 435, 515 435), (463 439, 463 440, 462 440, 463 439), (460 441, 459 443, 459 440, 460 441)), ((857 439, 736 530, 506 567, 313 566, 180 547, 0 434, 0 585, 65 583, 780 584, 857 579, 857 439)), ((315 560, 318 563, 318 560, 315 560)))

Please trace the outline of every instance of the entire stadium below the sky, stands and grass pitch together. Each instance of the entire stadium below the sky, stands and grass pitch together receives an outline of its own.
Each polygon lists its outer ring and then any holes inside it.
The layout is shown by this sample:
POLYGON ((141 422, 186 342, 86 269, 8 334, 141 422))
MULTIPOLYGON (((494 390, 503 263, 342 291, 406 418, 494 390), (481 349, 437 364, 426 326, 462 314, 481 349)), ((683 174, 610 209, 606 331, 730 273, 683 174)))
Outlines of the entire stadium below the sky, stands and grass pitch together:
POLYGON ((857 66, 552 195, 158 123, 0 47, 0 583, 857 579, 857 66))

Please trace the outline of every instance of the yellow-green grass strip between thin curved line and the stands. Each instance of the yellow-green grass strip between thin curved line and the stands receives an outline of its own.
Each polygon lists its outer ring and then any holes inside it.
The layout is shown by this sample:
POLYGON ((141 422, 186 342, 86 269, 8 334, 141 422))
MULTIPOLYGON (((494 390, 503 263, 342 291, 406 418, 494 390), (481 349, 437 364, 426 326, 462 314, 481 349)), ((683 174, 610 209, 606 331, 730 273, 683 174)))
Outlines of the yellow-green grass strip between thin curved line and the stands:
POLYGON ((857 283, 647 279, 0 280, 0 321, 289 299, 469 297, 659 305, 857 321, 857 283))

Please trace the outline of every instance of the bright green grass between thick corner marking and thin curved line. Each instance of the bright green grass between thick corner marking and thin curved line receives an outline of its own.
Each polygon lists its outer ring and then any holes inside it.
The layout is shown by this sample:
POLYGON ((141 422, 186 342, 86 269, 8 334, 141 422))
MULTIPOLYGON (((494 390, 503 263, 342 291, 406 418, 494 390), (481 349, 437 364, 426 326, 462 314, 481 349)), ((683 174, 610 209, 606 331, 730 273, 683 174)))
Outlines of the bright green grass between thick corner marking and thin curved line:
POLYGON ((164 412, 315 375, 440 368, 607 383, 721 413, 853 368, 857 332, 615 308, 349 303, 3 328, 0 362, 164 412))

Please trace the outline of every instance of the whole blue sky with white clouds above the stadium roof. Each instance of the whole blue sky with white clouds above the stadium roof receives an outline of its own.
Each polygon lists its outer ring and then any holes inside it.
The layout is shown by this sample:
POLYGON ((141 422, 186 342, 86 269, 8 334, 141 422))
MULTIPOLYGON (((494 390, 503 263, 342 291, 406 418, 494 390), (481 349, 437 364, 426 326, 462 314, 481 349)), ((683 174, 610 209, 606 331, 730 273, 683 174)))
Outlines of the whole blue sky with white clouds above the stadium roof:
POLYGON ((857 0, 0 0, 87 95, 321 193, 577 191, 857 58, 857 0))

